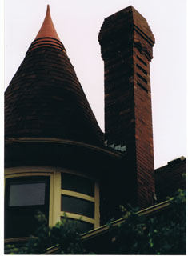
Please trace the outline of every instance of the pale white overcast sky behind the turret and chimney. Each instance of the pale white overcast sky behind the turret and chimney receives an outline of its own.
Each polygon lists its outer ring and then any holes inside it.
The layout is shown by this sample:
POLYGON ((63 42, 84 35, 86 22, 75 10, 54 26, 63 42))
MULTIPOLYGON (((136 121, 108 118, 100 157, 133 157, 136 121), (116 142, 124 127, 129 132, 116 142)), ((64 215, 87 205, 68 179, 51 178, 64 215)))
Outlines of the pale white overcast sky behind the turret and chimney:
POLYGON ((5 88, 42 26, 47 4, 102 130, 102 22, 130 5, 147 19, 156 41, 150 63, 155 168, 186 156, 186 0, 6 0, 5 88))

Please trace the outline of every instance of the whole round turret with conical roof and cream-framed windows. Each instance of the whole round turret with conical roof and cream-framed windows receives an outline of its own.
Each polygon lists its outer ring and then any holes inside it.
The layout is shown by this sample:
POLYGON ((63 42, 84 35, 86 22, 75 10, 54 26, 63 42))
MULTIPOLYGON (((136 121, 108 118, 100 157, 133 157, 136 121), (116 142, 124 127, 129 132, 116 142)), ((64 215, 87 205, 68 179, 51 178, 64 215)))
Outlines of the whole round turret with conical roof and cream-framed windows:
POLYGON ((6 238, 34 234, 37 210, 50 226, 66 213, 82 216, 82 232, 98 227, 99 146, 102 131, 47 6, 5 93, 6 238))

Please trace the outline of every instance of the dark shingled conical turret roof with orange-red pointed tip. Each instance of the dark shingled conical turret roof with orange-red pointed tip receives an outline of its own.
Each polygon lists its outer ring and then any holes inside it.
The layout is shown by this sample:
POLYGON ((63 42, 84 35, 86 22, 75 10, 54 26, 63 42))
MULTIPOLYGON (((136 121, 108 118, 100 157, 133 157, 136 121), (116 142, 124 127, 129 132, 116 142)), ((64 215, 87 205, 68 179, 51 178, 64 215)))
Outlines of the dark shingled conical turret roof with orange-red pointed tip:
POLYGON ((103 134, 74 67, 46 18, 5 93, 6 138, 62 138, 95 145, 103 134))

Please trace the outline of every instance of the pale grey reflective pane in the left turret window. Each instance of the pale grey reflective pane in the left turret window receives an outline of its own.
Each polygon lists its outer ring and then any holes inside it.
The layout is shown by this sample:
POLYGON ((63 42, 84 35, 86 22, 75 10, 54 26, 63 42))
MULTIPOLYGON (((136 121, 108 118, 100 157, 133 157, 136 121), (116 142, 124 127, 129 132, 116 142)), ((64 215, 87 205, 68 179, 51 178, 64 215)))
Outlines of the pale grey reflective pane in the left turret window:
POLYGON ((38 206, 44 204, 44 182, 10 184, 9 206, 38 206))

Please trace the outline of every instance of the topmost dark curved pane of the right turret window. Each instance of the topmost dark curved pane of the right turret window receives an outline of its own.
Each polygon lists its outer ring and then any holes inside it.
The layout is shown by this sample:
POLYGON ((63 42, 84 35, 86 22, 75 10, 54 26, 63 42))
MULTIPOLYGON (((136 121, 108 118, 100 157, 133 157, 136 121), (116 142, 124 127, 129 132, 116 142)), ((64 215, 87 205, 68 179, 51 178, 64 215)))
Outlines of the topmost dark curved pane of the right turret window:
POLYGON ((74 174, 62 174, 62 190, 71 190, 94 197, 94 181, 74 174))

